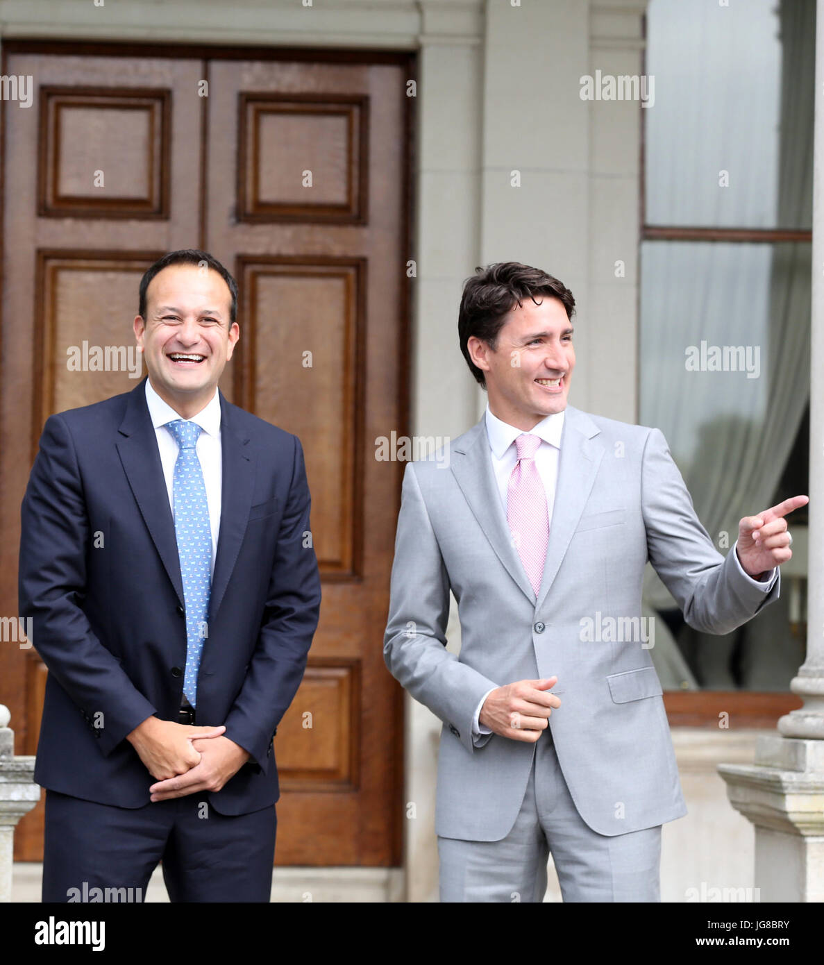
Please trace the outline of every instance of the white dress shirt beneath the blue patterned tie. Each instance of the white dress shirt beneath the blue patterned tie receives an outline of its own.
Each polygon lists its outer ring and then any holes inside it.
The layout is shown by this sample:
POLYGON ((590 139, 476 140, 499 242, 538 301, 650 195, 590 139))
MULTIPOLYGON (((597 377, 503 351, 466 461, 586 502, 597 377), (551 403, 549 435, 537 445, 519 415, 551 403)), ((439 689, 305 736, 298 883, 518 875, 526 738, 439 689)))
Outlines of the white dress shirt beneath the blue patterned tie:
MULTIPOLYGON (((151 425, 157 437, 157 449, 163 466, 163 478, 166 481, 166 491, 169 494, 169 507, 172 518, 175 518, 175 463, 178 460, 179 447, 175 436, 164 428, 166 423, 174 422, 183 417, 176 412, 168 402, 162 400, 154 389, 151 381, 146 380, 146 403, 149 406, 151 425)), ((214 576, 214 558, 217 555, 217 536, 220 532, 221 490, 223 485, 223 450, 220 445, 220 397, 217 388, 214 396, 206 408, 193 416, 189 422, 197 423, 203 429, 198 436, 195 452, 201 463, 206 484, 206 504, 208 505, 208 522, 211 528, 211 574, 214 576)))

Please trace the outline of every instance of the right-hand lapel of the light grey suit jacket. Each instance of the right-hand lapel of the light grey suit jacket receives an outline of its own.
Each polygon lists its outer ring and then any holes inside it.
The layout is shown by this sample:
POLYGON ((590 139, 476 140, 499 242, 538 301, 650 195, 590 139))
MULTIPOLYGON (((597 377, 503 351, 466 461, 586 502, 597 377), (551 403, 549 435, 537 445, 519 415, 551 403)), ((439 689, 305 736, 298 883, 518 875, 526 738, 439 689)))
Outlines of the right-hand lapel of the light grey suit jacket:
POLYGON ((594 438, 599 431, 600 429, 586 412, 581 412, 580 409, 570 405, 566 406, 558 463, 558 483, 555 489, 555 503, 549 526, 549 544, 546 548, 546 563, 543 566, 543 579, 537 596, 536 610, 540 608, 546 599, 546 594, 549 593, 581 513, 590 498, 598 467, 604 457, 603 443, 594 438))

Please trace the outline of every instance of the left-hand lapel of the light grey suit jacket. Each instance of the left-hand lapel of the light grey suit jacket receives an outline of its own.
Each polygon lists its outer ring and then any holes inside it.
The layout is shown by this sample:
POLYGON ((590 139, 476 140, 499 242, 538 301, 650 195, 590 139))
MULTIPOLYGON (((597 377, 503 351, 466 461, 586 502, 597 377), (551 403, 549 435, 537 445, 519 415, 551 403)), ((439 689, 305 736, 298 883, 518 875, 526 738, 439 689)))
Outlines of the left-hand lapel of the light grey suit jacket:
POLYGON ((521 591, 534 602, 535 593, 518 551, 512 545, 507 516, 501 505, 501 495, 492 471, 485 417, 453 445, 450 456, 453 476, 470 510, 478 520, 484 536, 489 540, 508 574, 521 591))

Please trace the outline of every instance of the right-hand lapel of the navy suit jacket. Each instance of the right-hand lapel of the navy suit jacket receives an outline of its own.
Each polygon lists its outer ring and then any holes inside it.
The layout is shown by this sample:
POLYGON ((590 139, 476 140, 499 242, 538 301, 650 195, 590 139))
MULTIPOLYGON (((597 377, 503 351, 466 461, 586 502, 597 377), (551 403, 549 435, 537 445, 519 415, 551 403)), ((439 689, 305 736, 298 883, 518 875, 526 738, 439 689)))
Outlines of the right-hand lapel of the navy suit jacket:
POLYGON ((214 620, 232 577, 240 544, 246 534, 252 487, 255 480, 255 459, 250 452, 249 436, 236 426, 233 406, 220 393, 220 442, 223 450, 223 481, 221 484, 220 532, 217 557, 211 578, 209 620, 214 620))

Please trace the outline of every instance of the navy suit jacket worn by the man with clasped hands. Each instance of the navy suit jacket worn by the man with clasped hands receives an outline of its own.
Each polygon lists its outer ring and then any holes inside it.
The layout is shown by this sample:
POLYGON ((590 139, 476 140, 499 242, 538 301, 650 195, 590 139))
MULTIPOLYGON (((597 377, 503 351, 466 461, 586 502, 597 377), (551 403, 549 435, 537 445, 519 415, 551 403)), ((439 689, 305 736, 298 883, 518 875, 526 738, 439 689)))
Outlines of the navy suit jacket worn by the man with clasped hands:
MULTIPOLYGON (((186 628, 175 523, 145 379, 50 416, 22 504, 20 616, 49 674, 35 781, 138 808, 151 774, 125 736, 177 720, 186 628)), ((223 483, 198 725, 226 725, 251 758, 218 813, 279 796, 272 748, 306 667, 320 606, 298 438, 220 394, 223 483)))

